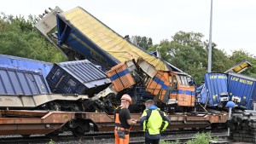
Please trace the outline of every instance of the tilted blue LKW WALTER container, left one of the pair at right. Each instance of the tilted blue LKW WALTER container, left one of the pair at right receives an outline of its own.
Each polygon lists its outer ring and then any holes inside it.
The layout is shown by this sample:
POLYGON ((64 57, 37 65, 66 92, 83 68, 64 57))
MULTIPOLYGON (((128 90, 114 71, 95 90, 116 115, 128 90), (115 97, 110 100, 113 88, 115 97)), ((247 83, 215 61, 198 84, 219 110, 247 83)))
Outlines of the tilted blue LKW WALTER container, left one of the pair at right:
POLYGON ((198 102, 210 107, 224 105, 228 101, 227 75, 224 73, 206 73, 205 85, 201 95, 197 95, 198 102))

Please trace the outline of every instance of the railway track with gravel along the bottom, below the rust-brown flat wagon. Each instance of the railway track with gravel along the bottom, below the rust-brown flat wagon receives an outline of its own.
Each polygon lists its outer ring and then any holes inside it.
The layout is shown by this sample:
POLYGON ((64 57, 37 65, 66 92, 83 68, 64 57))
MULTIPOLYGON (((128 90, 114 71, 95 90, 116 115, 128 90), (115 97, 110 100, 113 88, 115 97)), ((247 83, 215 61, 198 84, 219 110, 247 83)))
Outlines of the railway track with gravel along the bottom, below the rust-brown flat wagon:
MULTIPOLYGON (((211 130, 205 130, 205 132, 211 131, 211 130)), ((223 133, 227 130, 215 130, 212 133, 223 133)), ((165 136, 172 135, 173 137, 176 137, 176 135, 194 135, 198 132, 201 132, 199 130, 171 130, 171 131, 165 131, 162 133, 163 138, 162 140, 166 141, 176 141, 177 138, 164 138, 165 136)), ((216 136, 216 135, 214 135, 216 136)), ((223 137, 224 135, 218 135, 218 137, 223 137)), ((189 138, 178 138, 181 142, 182 141, 189 141, 190 139, 193 139, 193 137, 189 138)), ((106 133, 90 133, 85 134, 82 137, 74 137, 71 133, 66 133, 59 135, 58 137, 54 139, 50 139, 46 137, 45 135, 31 135, 29 137, 22 137, 20 135, 12 135, 9 137, 2 136, 0 138, 0 143, 2 144, 32 144, 32 143, 49 143, 49 141, 54 141, 55 143, 97 143, 100 144, 99 141, 106 141, 105 143, 111 143, 111 141, 114 140, 113 132, 106 132, 106 133)), ((131 131, 131 142, 130 143, 143 143, 143 131, 131 131), (140 137, 141 139, 135 139, 140 137)))

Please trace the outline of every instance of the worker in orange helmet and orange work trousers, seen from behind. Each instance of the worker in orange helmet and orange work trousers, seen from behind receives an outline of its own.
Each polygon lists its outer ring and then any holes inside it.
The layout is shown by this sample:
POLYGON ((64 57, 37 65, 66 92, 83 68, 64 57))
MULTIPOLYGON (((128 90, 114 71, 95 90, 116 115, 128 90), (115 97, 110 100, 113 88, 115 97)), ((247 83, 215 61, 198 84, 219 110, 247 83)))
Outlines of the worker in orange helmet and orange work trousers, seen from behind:
POLYGON ((115 144, 129 144, 131 125, 137 123, 137 120, 131 118, 128 107, 131 105, 131 96, 123 95, 121 105, 114 112, 114 137, 115 144))

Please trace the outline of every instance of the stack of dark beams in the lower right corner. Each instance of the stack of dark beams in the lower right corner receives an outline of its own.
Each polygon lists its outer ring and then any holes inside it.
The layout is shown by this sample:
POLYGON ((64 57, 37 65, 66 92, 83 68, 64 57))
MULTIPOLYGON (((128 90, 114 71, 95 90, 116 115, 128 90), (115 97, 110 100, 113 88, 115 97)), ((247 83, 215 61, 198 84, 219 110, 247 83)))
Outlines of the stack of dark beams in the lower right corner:
POLYGON ((256 111, 235 113, 229 122, 230 138, 234 141, 256 142, 256 111))

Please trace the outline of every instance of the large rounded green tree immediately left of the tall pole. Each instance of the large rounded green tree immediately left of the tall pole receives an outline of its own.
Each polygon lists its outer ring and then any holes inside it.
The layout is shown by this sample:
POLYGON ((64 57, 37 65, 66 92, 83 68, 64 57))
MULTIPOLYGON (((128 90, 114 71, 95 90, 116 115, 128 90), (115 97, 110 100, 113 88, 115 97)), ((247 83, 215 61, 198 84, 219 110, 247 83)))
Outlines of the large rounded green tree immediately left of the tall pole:
POLYGON ((189 73, 197 83, 207 72, 207 44, 203 35, 195 32, 177 32, 170 42, 168 61, 189 73))

